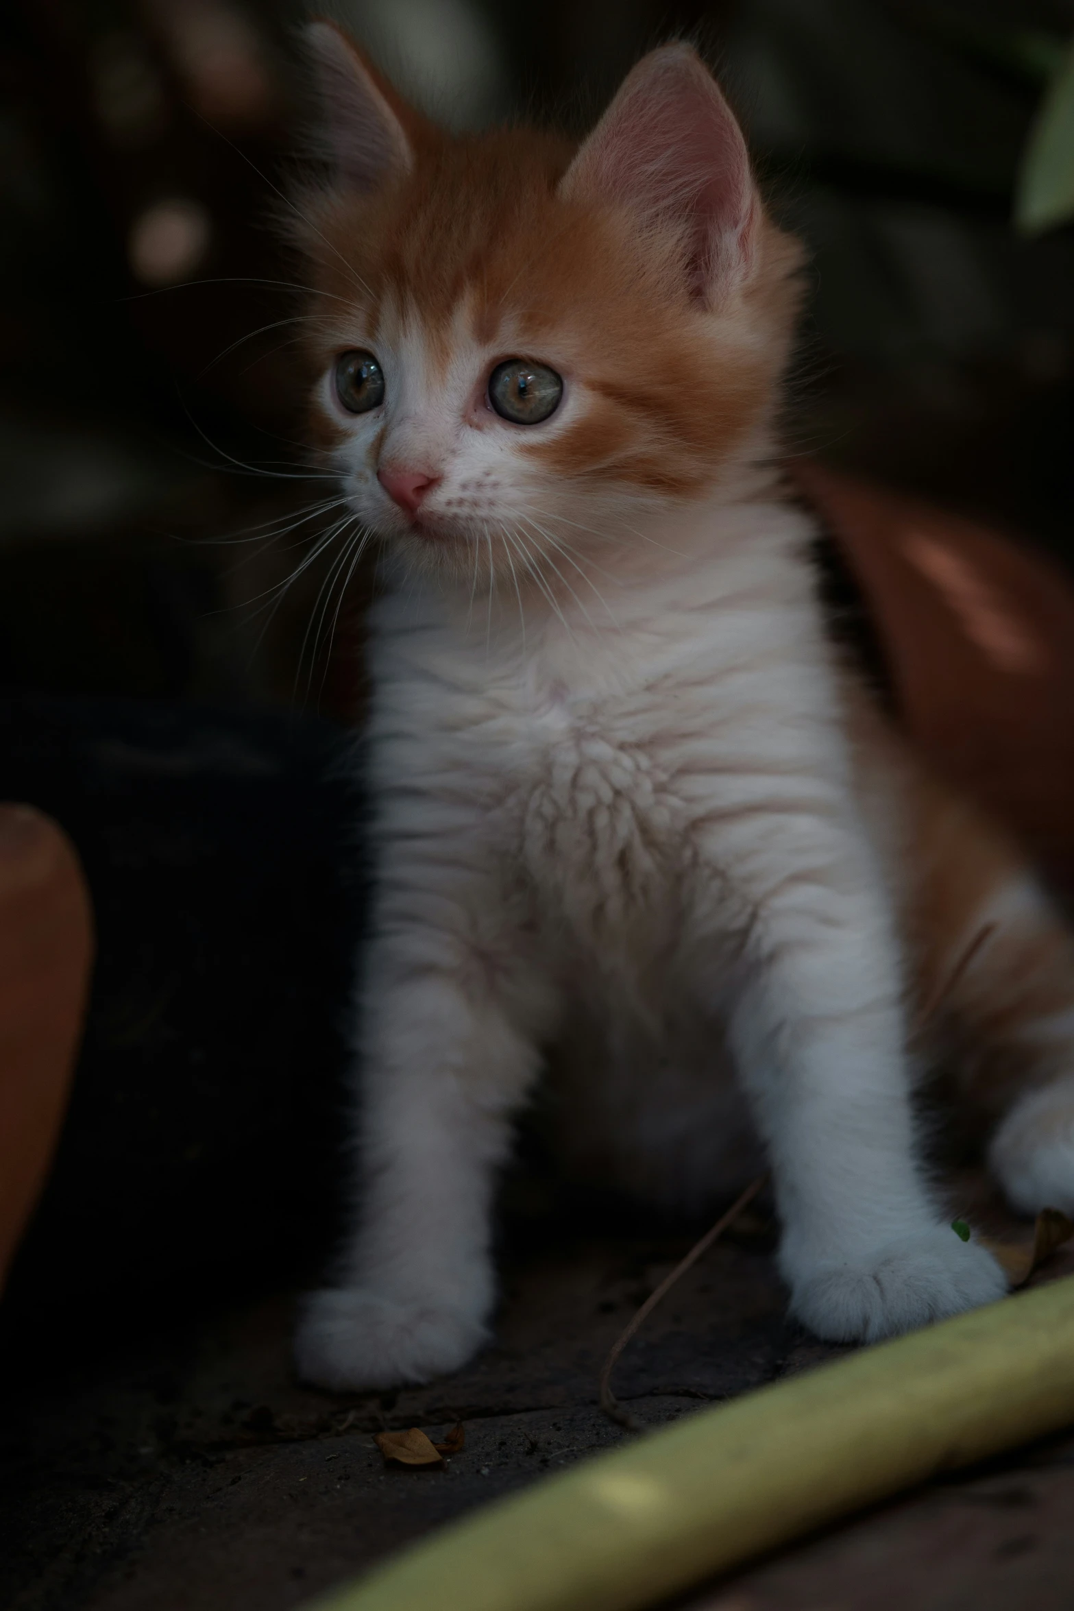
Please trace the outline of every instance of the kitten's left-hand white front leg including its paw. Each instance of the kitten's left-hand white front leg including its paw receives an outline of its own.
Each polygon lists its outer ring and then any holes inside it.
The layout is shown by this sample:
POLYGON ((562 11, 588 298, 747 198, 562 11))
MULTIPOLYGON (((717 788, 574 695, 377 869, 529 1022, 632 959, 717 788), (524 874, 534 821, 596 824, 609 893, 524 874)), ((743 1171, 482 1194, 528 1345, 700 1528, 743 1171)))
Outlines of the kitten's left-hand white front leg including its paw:
POLYGON ((333 1389, 423 1382, 485 1340, 494 1171, 538 1068, 518 1020, 539 1004, 515 999, 509 1012, 504 997, 488 960, 432 925, 393 928, 375 944, 357 1224, 340 1284, 308 1300, 296 1340, 304 1379, 333 1389))

